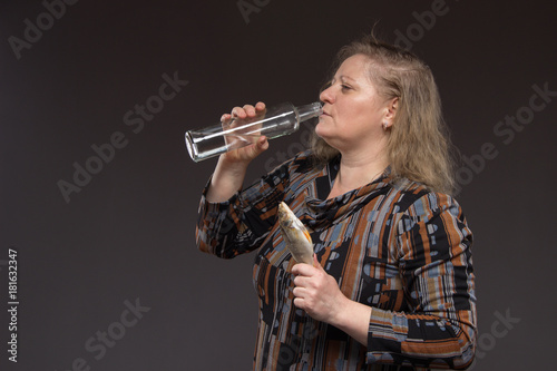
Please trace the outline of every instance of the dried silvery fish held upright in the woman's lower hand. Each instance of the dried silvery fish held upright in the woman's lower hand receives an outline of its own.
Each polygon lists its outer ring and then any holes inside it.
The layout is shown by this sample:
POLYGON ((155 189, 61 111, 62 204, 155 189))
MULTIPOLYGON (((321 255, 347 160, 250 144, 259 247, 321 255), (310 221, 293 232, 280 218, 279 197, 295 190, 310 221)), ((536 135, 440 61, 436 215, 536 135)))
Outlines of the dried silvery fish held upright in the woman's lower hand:
POLYGON ((285 203, 278 204, 282 237, 297 263, 313 265, 313 243, 310 233, 285 203))

